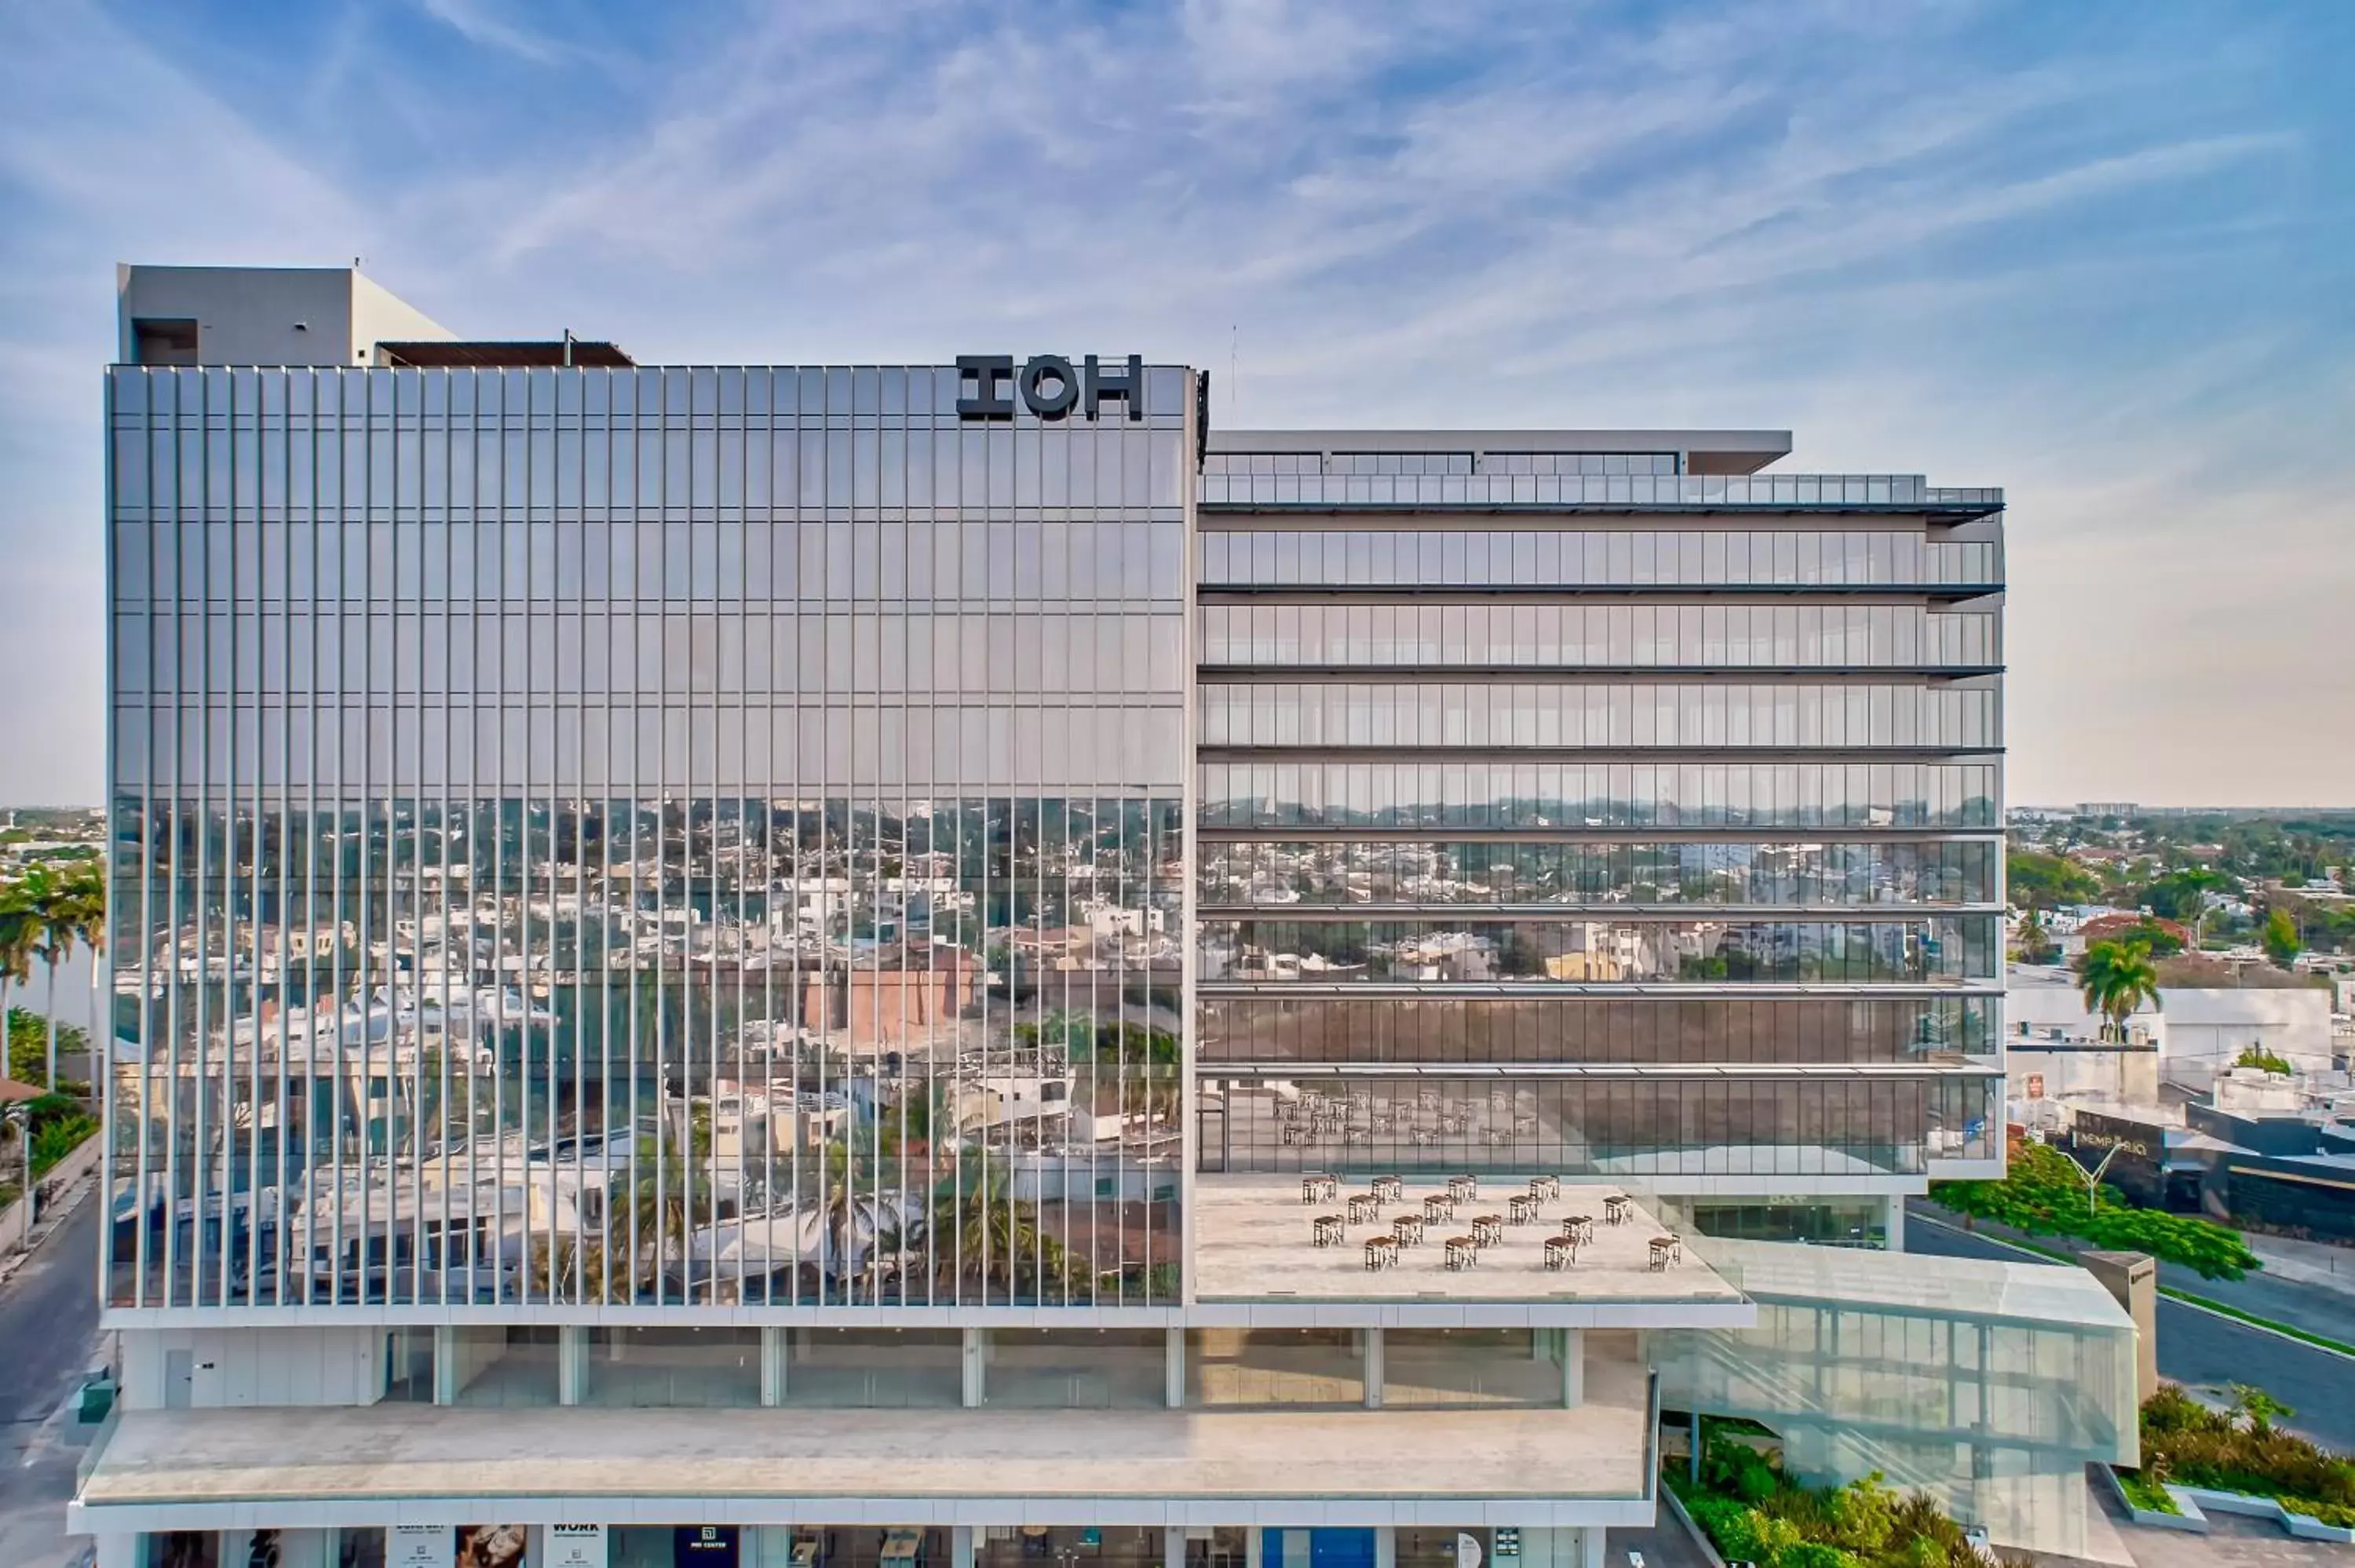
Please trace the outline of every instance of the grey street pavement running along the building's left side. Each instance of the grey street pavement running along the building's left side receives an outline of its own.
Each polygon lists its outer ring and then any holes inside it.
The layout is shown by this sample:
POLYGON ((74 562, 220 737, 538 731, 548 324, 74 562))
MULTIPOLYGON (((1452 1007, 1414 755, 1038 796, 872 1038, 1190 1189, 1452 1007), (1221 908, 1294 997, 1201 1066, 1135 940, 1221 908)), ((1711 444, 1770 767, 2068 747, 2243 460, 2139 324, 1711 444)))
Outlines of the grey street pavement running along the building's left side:
POLYGON ((66 1535, 66 1500, 89 1427, 66 1403, 99 1361, 99 1212, 87 1194, 73 1215, 0 1285, 0 1563, 78 1563, 85 1537, 66 1535))

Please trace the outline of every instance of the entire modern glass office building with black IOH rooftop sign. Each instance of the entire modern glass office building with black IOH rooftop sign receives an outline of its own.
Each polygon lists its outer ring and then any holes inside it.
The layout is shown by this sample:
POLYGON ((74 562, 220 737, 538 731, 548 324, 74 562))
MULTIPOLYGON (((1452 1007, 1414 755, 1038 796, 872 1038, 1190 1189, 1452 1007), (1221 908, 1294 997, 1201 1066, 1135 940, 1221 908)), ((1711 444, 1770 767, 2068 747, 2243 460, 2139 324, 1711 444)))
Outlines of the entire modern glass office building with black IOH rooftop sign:
POLYGON ((1999 492, 120 297, 104 1568, 1599 1563, 2002 1168, 1999 492))

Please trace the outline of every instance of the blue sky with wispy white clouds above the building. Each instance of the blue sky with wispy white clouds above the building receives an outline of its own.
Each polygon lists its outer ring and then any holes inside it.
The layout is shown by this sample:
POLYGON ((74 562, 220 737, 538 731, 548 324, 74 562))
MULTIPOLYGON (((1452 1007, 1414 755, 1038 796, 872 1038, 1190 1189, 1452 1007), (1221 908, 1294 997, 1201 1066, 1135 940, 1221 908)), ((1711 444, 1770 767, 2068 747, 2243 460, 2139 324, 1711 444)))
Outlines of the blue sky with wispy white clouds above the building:
POLYGON ((2011 798, 2355 803, 2355 5, 0 7, 0 800, 101 793, 113 264, 641 360, 2011 492, 2011 798))

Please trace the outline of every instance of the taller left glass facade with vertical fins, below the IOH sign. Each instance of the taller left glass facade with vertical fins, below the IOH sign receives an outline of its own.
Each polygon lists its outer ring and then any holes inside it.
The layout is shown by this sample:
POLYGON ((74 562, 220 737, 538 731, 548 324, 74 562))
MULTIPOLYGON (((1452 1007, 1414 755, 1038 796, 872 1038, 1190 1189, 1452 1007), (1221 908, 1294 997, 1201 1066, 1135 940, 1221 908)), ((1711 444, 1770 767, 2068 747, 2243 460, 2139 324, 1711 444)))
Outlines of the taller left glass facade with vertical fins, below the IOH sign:
POLYGON ((108 1302, 1173 1302, 1142 381, 113 370, 108 1302))

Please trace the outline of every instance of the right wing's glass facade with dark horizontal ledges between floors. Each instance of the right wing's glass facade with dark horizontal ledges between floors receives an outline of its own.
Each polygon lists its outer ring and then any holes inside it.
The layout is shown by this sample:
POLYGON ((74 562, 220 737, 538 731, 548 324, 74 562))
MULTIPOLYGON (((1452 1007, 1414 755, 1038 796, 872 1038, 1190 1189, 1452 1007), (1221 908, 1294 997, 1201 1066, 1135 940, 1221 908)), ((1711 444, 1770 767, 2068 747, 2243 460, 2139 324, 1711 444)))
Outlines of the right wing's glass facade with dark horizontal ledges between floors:
POLYGON ((2002 494, 1413 443, 1206 459, 1203 1168, 1997 1161, 2002 494))

